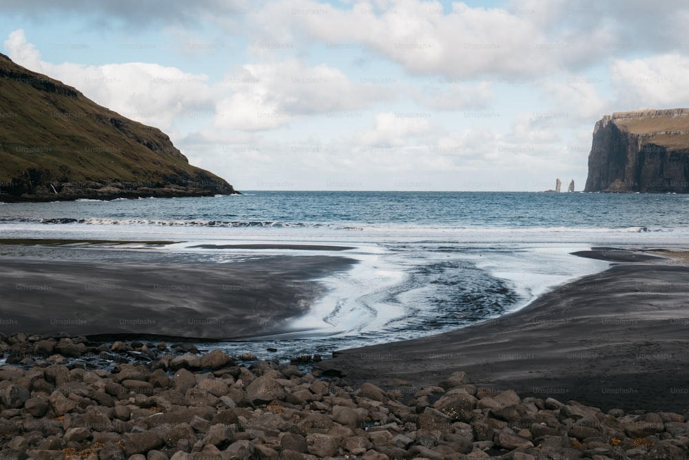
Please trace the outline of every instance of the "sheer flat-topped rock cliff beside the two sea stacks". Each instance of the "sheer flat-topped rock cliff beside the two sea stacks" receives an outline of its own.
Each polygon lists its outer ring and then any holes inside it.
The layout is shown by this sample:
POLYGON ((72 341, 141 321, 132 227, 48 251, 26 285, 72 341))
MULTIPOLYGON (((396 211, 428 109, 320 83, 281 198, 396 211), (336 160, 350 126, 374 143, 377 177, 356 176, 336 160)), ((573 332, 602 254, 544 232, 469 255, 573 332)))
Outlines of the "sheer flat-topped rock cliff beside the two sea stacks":
POLYGON ((596 123, 585 192, 689 192, 689 109, 615 112, 596 123))

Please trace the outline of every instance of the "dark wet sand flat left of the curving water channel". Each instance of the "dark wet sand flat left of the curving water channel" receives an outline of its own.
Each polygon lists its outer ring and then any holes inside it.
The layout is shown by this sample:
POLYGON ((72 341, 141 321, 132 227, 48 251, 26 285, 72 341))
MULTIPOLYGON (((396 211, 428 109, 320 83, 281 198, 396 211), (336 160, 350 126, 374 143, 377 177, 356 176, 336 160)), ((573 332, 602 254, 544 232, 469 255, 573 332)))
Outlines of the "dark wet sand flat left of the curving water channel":
POLYGON ((289 321, 325 293, 311 280, 353 263, 322 255, 232 263, 0 257, 0 332, 218 341, 294 332, 289 321))

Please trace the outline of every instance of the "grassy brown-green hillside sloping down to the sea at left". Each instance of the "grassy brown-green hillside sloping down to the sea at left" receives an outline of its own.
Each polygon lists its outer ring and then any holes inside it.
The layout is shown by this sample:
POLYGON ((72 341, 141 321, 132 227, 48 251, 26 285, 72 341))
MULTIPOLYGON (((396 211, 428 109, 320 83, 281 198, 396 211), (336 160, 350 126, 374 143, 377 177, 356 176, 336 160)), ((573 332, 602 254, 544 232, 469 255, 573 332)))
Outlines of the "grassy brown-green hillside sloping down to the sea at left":
POLYGON ((0 201, 233 194, 167 134, 0 54, 0 201))

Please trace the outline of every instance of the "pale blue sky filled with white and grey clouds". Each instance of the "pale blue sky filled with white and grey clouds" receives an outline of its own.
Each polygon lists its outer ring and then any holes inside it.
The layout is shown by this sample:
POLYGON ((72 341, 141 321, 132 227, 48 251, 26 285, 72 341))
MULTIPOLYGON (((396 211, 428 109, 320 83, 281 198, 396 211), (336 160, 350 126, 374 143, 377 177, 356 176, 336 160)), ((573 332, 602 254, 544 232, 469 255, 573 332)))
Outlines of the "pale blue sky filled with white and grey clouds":
POLYGON ((2 52, 237 190, 577 190, 605 114, 689 107, 689 3, 1 0, 2 52))

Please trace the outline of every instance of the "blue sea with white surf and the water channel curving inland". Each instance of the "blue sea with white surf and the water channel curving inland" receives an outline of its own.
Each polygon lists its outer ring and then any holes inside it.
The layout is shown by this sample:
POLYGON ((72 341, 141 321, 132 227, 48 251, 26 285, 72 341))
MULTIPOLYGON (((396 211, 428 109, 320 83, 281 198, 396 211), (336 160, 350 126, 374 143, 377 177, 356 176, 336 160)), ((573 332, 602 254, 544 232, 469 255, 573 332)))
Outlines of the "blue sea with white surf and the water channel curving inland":
MULTIPOLYGON (((266 255, 356 259, 350 270, 317 278, 323 293, 286 325, 295 332, 198 345, 289 359, 327 357, 335 350, 495 319, 546 290, 608 267, 570 254, 576 250, 683 249, 689 242, 688 206, 689 197, 681 194, 255 191, 2 203, 0 237, 128 242, 75 245, 70 257, 85 259, 143 261, 152 253, 211 265, 266 255), (352 249, 192 248, 233 243, 352 249)), ((11 252, 43 259, 64 255, 49 246, 11 252)))

